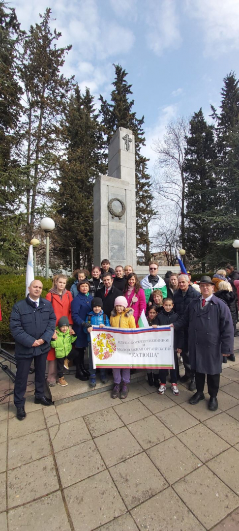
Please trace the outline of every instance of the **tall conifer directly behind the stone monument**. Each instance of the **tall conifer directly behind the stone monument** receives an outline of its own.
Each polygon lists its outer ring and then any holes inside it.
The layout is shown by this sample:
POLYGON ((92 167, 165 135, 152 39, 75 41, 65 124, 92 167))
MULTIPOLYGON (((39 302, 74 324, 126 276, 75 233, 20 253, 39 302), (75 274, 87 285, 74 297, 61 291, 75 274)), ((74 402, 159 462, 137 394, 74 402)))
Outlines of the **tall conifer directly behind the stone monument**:
POLYGON ((127 83, 127 72, 120 65, 115 65, 114 89, 111 92, 111 103, 100 95, 100 113, 104 132, 109 143, 119 127, 130 129, 135 140, 135 180, 136 180, 136 239, 137 247, 144 253, 147 264, 150 258, 148 224, 154 212, 152 209, 153 196, 150 191, 150 175, 148 174, 148 159, 141 155, 141 147, 145 145, 143 123, 144 117, 137 118, 133 112, 134 100, 132 85, 127 83))

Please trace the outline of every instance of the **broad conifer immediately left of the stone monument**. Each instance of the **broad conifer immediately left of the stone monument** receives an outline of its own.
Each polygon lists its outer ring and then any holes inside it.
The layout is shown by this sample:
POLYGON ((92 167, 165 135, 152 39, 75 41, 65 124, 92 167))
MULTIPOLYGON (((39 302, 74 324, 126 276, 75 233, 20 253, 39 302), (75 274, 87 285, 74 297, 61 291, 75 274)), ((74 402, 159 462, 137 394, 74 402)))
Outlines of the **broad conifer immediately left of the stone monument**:
POLYGON ((90 268, 93 255, 93 184, 104 172, 104 139, 89 89, 76 85, 69 100, 62 140, 66 159, 60 165, 54 192, 57 255, 74 267, 90 268))

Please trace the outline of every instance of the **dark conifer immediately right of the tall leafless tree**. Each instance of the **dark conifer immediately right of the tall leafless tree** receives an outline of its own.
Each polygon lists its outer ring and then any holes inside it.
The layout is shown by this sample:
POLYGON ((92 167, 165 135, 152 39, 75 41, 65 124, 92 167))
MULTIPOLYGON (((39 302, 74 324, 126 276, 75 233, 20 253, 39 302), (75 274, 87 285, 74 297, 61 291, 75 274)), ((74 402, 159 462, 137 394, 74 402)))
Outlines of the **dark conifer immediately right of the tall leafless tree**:
POLYGON ((217 239, 218 233, 215 215, 219 198, 214 174, 214 128, 207 124, 202 109, 191 118, 190 134, 186 140, 186 248, 191 260, 196 258, 197 262, 201 262, 204 273, 206 264, 215 265, 212 242, 217 239))

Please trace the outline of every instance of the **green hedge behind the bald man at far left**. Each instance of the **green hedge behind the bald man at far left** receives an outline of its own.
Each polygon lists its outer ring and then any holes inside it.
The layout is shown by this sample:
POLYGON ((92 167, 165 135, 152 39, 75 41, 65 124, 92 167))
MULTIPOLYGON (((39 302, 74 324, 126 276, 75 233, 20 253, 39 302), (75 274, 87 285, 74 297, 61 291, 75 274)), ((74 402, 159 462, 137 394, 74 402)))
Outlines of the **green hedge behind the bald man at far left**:
MULTIPOLYGON (((43 284, 42 297, 45 297, 52 287, 52 280, 37 277, 43 284)), ((2 341, 13 341, 9 329, 9 320, 15 302, 25 298, 25 275, 1 275, 0 300, 2 321, 0 321, 0 337, 2 341)))

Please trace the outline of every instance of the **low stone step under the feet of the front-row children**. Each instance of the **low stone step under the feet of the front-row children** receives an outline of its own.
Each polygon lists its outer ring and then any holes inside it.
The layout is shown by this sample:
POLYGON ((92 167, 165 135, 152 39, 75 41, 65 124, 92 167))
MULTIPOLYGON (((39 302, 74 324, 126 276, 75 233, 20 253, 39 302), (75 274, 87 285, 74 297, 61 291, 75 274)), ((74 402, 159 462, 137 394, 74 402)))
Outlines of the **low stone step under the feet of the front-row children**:
MULTIPOLYGON (((82 382, 81 380, 75 378, 74 367, 73 371, 70 369, 69 375, 65 375, 65 379, 69 383, 68 386, 61 387, 56 385, 55 387, 49 387, 48 389, 52 400, 55 402, 55 406, 57 406, 59 404, 64 404, 65 402, 71 402, 72 400, 78 400, 91 395, 97 395, 98 393, 113 389, 114 386, 112 374, 109 374, 108 378, 109 380, 107 383, 101 383, 99 374, 97 373, 97 384, 96 387, 92 389, 89 387, 88 381, 82 382)), ((131 383, 139 382, 141 380, 146 380, 146 371, 137 369, 134 374, 131 374, 131 383)))

